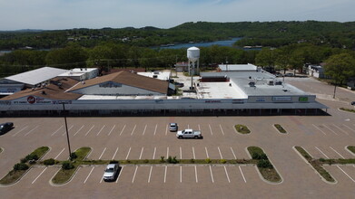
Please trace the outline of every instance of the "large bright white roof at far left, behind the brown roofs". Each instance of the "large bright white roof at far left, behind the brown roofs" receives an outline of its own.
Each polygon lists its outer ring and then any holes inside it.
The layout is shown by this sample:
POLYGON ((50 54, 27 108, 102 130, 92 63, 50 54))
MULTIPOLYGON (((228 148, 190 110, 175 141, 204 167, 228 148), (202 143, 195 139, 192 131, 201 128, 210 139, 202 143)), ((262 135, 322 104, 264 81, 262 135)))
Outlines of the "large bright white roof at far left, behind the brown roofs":
POLYGON ((6 80, 17 81, 25 84, 35 85, 43 81, 48 81, 64 73, 66 70, 52 67, 43 67, 33 71, 25 71, 13 76, 6 77, 6 80))

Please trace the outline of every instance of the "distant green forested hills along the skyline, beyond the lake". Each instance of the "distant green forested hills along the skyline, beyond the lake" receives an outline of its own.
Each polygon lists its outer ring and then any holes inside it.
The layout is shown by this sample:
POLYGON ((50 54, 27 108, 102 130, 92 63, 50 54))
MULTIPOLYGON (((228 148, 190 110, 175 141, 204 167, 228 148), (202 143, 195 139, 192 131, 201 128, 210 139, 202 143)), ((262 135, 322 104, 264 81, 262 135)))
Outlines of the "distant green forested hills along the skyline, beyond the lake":
POLYGON ((243 37, 237 45, 280 47, 291 43, 313 43, 355 49, 355 22, 238 22, 185 23, 170 29, 143 28, 70 29, 42 32, 0 32, 0 50, 31 46, 35 49, 62 48, 67 43, 94 47, 102 42, 134 46, 211 42, 243 37))

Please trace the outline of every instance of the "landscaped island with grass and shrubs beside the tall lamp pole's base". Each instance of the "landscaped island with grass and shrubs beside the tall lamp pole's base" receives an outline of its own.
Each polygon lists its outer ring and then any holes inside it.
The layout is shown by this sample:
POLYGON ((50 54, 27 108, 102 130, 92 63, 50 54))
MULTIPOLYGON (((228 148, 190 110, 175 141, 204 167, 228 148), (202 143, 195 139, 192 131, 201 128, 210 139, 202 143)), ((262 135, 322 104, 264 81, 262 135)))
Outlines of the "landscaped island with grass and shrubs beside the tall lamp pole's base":
MULTIPOLYGON (((77 168, 84 165, 84 158, 90 153, 91 147, 81 147, 71 154, 71 160, 62 162, 62 168, 54 175, 52 183, 63 185, 74 175, 77 168)), ((54 163, 55 164, 55 163, 54 163)))

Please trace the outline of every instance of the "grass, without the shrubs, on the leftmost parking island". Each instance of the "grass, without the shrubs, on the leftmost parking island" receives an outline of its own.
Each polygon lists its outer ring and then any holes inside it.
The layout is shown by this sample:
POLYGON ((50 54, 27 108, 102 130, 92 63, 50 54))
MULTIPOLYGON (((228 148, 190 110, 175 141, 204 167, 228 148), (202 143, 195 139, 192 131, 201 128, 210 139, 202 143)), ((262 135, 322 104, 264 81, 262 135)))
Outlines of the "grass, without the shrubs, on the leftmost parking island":
MULTIPOLYGON (((29 156, 37 156, 39 158, 41 158, 42 156, 44 156, 45 153, 47 153, 49 150, 49 147, 38 147, 35 149, 35 151, 33 151, 29 156)), ((28 160, 26 160, 27 162, 28 160)), ((27 163, 23 163, 24 165, 26 164, 28 166, 27 163)), ((0 180, 0 184, 1 185, 11 185, 14 184, 15 182, 17 182, 23 175, 25 175, 26 171, 29 169, 29 167, 27 169, 24 170, 11 170, 9 173, 7 173, 7 175, 5 175, 1 180, 0 180)))

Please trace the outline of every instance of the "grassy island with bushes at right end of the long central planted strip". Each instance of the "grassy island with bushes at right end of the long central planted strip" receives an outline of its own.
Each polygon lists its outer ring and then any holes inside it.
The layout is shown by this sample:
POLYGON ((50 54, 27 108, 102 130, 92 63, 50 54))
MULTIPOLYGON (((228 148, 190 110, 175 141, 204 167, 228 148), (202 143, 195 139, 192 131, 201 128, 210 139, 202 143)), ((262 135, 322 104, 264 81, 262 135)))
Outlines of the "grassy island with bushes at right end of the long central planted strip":
POLYGON ((248 147, 253 160, 257 161, 258 169, 265 180, 272 183, 281 181, 281 176, 277 173, 274 166, 272 166, 268 156, 260 147, 248 147))

